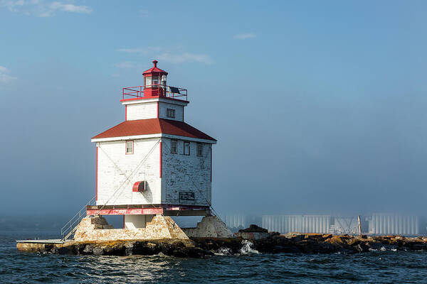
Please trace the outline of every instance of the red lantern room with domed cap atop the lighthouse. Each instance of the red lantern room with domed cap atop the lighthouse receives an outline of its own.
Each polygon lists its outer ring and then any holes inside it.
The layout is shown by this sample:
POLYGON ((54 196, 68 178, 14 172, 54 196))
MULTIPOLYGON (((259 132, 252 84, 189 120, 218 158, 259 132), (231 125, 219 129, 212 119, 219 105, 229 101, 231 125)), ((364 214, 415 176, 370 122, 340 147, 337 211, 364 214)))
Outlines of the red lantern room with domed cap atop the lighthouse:
POLYGON ((157 60, 153 60, 154 66, 142 73, 144 75, 144 97, 165 97, 167 93, 167 72, 157 67, 157 60))

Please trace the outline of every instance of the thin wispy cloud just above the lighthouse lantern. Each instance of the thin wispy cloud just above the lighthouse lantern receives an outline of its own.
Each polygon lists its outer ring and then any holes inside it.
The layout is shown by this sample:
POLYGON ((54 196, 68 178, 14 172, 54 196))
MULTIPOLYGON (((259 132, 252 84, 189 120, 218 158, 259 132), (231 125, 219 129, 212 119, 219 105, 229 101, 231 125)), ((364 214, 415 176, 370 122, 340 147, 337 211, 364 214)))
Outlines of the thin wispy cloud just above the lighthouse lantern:
MULTIPOLYGON (((160 48, 120 48, 117 51, 122 53, 137 53, 147 55, 153 59, 164 60, 165 62, 183 63, 183 62, 199 62, 204 64, 212 64, 214 60, 209 55, 201 53, 189 53, 183 50, 182 47, 160 48)), ((119 67, 119 66, 116 66, 119 67)))

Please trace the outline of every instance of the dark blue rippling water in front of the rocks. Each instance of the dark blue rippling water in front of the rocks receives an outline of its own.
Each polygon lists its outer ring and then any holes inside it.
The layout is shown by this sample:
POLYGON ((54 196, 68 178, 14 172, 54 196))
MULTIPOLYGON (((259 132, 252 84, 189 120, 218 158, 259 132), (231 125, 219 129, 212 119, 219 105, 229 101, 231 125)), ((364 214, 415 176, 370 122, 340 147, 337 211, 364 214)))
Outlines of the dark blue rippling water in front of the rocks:
POLYGON ((15 240, 30 236, 0 231, 0 283, 427 283, 427 252, 269 255, 248 246, 239 256, 192 259, 16 251, 15 240))

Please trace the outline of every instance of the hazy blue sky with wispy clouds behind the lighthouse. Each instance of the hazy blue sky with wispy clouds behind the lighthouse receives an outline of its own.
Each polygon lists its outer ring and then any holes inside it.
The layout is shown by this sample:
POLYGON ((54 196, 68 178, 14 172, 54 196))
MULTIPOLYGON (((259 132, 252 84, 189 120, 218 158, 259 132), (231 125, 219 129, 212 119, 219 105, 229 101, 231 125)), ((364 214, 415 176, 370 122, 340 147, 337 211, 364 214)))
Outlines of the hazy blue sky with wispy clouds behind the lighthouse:
POLYGON ((218 139, 219 212, 426 214, 425 1, 0 0, 0 214, 94 195, 152 66, 218 139))

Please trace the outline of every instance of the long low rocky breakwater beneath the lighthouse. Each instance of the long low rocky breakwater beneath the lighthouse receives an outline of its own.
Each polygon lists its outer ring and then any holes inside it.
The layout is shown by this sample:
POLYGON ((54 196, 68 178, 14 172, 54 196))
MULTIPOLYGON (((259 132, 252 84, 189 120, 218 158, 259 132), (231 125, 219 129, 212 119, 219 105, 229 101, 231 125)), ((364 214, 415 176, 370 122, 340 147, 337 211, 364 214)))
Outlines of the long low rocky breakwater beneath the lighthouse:
POLYGON ((427 251, 427 237, 279 234, 252 225, 234 238, 190 237, 114 241, 67 241, 64 244, 20 242, 19 251, 70 255, 204 258, 242 253, 365 253, 369 251, 427 251))

